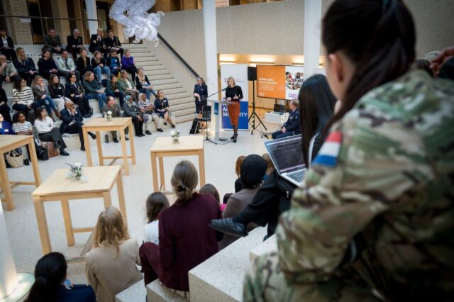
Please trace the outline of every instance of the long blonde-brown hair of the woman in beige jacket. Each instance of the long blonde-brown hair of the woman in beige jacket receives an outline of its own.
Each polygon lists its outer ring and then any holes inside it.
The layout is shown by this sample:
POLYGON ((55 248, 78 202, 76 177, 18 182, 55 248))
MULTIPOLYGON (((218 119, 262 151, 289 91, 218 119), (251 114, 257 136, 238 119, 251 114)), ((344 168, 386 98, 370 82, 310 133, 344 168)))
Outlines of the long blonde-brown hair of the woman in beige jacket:
POLYGON ((98 216, 93 232, 93 247, 113 246, 117 252, 121 243, 131 238, 120 210, 109 206, 98 216))

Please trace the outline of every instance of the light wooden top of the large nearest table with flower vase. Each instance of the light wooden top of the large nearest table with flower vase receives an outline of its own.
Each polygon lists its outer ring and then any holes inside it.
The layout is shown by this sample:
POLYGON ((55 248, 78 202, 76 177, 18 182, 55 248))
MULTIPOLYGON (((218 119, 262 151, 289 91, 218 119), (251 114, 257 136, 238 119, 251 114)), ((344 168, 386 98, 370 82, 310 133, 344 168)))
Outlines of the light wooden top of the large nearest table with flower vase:
POLYGON ((31 195, 50 196, 109 191, 120 171, 121 166, 84 167, 83 173, 88 177, 88 182, 82 183, 82 181, 66 179, 68 169, 57 169, 31 195))

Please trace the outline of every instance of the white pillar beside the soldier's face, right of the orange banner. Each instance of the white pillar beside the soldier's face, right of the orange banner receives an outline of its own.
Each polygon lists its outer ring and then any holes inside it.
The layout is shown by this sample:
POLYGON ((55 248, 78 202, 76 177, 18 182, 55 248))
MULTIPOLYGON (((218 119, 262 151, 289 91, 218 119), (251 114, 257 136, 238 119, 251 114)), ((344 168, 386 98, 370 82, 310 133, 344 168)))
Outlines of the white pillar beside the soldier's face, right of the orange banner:
POLYGON ((319 68, 321 1, 304 1, 304 79, 319 68))

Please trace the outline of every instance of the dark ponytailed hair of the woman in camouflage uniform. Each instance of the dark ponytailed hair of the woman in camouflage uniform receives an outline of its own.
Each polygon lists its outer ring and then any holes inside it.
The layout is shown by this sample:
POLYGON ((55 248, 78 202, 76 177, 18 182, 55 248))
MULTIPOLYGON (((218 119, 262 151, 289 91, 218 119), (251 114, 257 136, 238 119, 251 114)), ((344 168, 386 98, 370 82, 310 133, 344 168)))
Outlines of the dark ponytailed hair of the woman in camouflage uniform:
POLYGON ((323 18, 327 54, 341 50, 355 65, 342 106, 327 127, 377 86, 405 74, 415 57, 413 18, 401 0, 337 0, 323 18))

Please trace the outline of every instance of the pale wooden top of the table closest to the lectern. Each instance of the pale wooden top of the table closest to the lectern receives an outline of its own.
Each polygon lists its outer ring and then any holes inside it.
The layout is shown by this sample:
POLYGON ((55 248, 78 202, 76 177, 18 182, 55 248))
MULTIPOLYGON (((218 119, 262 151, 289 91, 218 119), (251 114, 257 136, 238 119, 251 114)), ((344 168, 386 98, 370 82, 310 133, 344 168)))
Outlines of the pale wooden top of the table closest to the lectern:
POLYGON ((171 136, 156 138, 151 152, 203 150, 204 137, 201 135, 180 136, 179 142, 173 142, 171 136))

